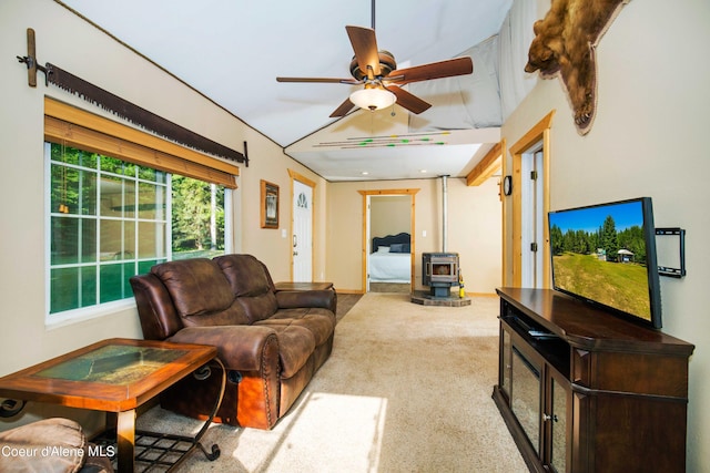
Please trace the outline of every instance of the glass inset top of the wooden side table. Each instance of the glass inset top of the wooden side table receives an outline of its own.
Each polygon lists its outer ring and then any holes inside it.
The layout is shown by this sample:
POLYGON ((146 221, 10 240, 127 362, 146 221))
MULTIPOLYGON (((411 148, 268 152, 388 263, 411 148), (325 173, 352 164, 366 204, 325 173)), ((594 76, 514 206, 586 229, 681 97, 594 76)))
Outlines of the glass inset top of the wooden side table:
POLYGON ((40 378, 131 384, 144 379, 186 350, 109 345, 37 372, 40 378))

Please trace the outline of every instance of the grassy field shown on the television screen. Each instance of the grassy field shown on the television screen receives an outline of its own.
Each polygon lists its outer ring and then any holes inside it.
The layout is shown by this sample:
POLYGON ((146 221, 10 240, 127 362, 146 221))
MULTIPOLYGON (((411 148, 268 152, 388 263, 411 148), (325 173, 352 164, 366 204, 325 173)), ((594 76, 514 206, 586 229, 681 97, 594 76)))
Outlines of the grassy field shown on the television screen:
POLYGON ((651 320, 646 267, 576 253, 554 256, 552 266, 558 288, 651 320))

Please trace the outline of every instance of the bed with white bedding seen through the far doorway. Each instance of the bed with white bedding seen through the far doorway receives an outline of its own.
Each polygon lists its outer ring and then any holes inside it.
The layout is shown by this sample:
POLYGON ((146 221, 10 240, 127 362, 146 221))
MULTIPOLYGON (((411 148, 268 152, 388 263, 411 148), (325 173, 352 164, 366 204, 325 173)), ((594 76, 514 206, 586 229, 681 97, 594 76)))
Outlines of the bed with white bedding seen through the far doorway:
POLYGON ((372 282, 412 281, 412 238, 407 233, 374 237, 369 254, 372 282))

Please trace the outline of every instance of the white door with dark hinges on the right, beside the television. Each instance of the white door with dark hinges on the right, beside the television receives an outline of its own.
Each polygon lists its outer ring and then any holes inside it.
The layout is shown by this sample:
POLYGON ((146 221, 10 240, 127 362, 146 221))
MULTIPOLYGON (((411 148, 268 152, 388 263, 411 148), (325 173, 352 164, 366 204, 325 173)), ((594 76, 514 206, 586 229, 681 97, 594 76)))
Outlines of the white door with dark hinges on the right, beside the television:
POLYGON ((521 284, 523 287, 542 287, 542 151, 525 154, 521 161, 521 284))

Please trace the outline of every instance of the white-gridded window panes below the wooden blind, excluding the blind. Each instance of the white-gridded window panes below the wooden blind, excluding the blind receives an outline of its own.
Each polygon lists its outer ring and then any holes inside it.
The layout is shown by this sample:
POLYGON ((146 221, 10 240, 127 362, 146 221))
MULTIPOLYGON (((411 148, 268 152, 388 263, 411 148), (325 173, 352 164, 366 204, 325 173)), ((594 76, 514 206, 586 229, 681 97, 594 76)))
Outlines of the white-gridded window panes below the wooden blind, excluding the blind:
POLYGON ((47 154, 48 320, 133 297, 129 278, 158 263, 225 251, 223 186, 55 143, 47 154))

